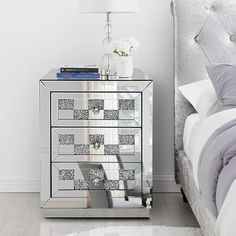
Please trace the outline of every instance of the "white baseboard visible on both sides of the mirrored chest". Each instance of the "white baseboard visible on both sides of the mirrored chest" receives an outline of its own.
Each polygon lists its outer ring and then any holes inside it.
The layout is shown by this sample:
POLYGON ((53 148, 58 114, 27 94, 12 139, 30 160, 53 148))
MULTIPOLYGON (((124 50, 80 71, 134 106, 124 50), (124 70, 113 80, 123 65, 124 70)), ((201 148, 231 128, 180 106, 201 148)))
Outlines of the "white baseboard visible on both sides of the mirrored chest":
MULTIPOLYGON (((40 192, 39 176, 0 178, 0 192, 40 192)), ((153 192, 179 192, 173 175, 154 175, 153 192)))

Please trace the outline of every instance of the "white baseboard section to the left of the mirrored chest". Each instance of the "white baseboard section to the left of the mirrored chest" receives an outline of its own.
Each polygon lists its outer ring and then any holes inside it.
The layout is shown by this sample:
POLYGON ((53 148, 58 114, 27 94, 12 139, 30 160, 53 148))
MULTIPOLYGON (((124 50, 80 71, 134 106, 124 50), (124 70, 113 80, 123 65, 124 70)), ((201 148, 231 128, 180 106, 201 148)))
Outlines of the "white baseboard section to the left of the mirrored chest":
POLYGON ((39 192, 39 176, 0 177, 0 192, 39 192))

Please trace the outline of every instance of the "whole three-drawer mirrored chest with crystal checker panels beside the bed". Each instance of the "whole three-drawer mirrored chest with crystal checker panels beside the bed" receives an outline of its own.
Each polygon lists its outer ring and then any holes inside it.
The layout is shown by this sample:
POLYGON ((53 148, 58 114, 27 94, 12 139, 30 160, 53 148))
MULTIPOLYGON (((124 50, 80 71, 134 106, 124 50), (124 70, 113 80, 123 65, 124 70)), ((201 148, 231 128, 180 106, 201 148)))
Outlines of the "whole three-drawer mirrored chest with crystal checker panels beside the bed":
POLYGON ((41 208, 45 217, 148 218, 153 82, 40 80, 41 208))

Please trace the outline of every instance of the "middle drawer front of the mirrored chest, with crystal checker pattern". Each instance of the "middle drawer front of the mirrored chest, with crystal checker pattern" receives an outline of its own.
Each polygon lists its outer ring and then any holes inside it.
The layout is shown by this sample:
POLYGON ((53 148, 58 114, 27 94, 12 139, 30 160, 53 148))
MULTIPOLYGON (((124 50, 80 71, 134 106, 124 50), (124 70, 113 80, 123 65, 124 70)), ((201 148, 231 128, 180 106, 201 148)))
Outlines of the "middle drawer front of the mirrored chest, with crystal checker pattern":
POLYGON ((54 128, 54 162, 139 162, 140 128, 54 128))

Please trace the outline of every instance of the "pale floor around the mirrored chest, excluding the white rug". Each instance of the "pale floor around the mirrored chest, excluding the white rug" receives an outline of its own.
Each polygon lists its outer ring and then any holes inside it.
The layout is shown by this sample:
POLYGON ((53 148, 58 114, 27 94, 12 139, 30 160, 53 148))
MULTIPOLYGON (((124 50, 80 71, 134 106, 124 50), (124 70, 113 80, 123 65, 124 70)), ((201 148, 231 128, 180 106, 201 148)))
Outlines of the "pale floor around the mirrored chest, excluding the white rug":
POLYGON ((167 225, 198 227, 179 193, 154 194, 150 219, 44 219, 38 193, 0 193, 1 236, 66 236, 96 227, 167 225))

